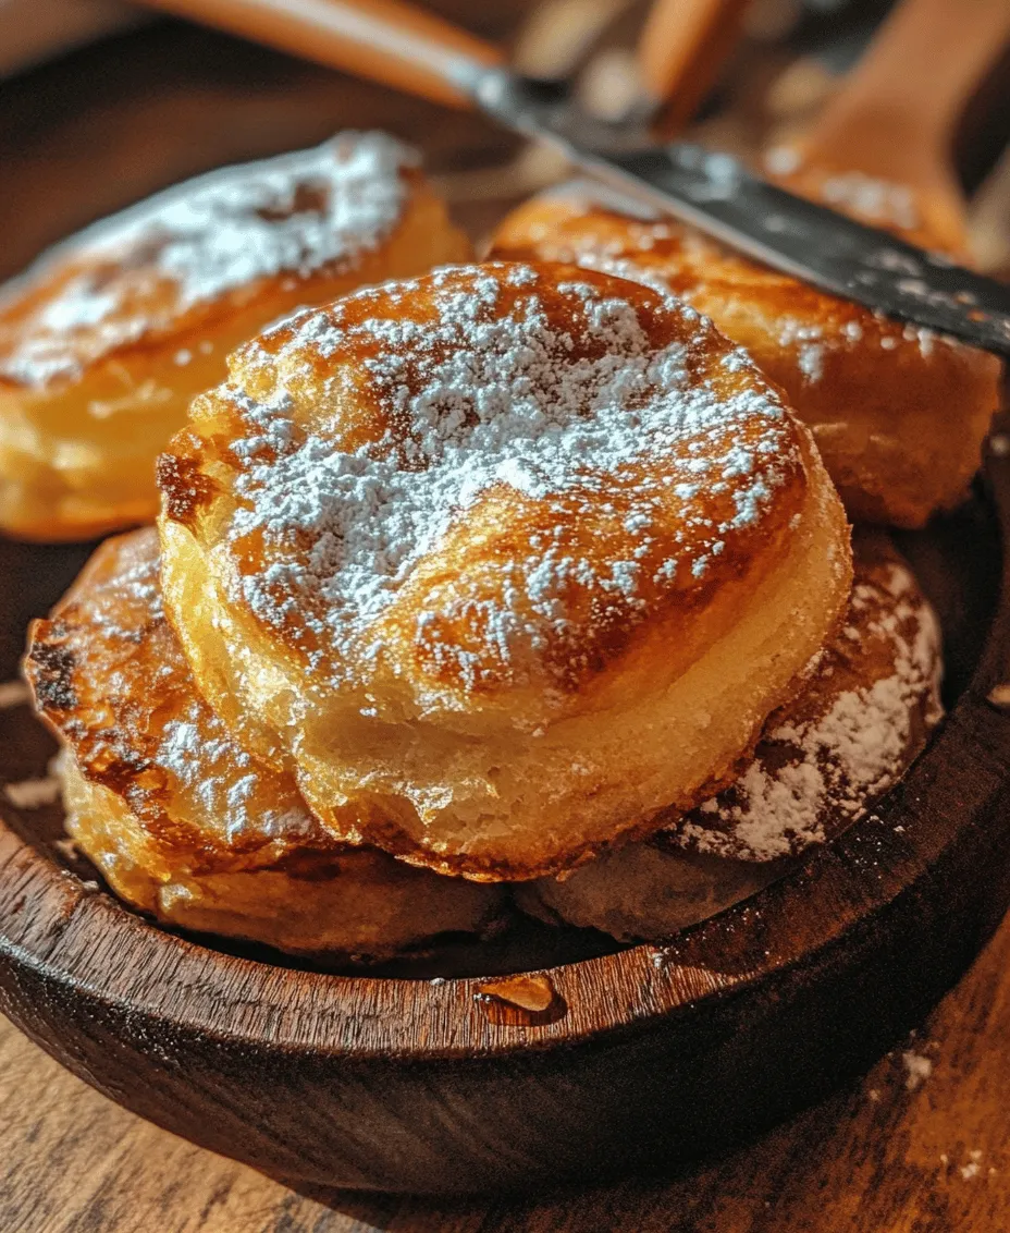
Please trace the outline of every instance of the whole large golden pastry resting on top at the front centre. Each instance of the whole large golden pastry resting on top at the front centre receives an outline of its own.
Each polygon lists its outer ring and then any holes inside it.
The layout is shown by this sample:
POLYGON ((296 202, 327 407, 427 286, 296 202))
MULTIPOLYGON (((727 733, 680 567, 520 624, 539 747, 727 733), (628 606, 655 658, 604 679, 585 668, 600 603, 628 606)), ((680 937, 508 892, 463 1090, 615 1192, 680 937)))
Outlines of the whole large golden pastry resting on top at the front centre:
POLYGON ((851 580, 807 430, 693 309, 448 268, 240 348, 159 464, 201 689, 337 836, 474 879, 691 808, 851 580))

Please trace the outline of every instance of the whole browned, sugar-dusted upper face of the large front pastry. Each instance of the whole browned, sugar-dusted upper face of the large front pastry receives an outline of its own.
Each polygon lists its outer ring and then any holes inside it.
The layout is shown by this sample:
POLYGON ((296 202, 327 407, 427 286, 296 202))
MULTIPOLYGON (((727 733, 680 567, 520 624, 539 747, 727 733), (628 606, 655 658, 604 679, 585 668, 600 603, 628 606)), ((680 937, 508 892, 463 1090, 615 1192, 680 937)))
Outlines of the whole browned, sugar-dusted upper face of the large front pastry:
POLYGON ((392 674, 421 710, 530 686, 557 709, 643 623, 686 631, 804 496, 796 423, 697 313, 530 265, 267 330, 160 475, 168 518, 213 529, 230 600, 314 679, 392 674))

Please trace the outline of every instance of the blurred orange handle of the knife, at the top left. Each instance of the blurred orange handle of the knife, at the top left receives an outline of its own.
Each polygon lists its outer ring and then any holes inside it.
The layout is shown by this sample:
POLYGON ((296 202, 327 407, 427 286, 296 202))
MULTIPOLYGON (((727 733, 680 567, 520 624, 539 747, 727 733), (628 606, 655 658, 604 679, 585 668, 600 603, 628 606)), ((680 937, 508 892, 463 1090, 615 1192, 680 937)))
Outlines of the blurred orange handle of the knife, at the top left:
POLYGON ((496 64, 490 43, 404 0, 148 0, 356 76, 467 107, 461 76, 496 64))

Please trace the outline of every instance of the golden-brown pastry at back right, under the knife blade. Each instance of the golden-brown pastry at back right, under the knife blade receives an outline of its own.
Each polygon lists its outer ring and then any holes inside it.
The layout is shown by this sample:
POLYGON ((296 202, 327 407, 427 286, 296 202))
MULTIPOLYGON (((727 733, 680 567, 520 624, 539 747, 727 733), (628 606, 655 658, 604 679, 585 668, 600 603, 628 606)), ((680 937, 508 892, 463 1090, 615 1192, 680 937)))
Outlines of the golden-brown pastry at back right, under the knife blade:
POLYGON ((984 351, 877 317, 581 181, 514 211, 493 255, 644 279, 706 313, 786 391, 856 522, 921 526, 961 502, 978 470, 1000 397, 1000 364, 984 351))

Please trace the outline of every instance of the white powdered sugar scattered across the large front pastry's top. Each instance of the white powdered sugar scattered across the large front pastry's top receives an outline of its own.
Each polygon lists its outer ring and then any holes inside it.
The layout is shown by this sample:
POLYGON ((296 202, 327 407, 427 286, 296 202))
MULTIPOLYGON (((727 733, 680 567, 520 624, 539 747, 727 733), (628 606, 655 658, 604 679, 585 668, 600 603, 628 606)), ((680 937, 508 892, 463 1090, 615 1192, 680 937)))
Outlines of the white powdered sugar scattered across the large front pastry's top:
MULTIPOLYGON (((564 312, 548 312, 542 277, 525 265, 447 268, 422 291, 366 291, 292 318, 280 354, 270 335, 259 359, 246 353, 248 366, 281 376, 266 402, 234 390, 249 435, 233 446, 239 508, 228 538, 238 559, 246 536, 261 538, 267 561, 234 586, 267 624, 309 629, 334 679, 349 660, 360 671, 381 656, 383 614, 489 493, 506 509, 547 510, 537 534, 487 566, 493 584, 482 589, 482 561, 421 605, 418 644, 451 658, 466 684, 480 655, 438 640, 443 616, 475 613, 499 665, 563 634, 573 593, 622 604, 631 619, 649 588, 703 577, 781 483, 792 440, 781 404, 753 370, 718 395, 696 376, 692 349, 712 335, 692 309, 669 298, 650 309, 680 316, 665 337, 689 339, 658 345, 621 284, 556 285, 547 290, 564 312), (405 311, 411 297, 426 306, 418 319, 405 311), (329 366, 334 416, 349 416, 341 391, 367 383, 362 406, 377 401, 381 435, 355 446, 297 425, 283 374, 299 375, 307 354, 329 366), (664 529, 671 502, 677 534, 690 531, 682 552, 664 529), (618 509, 627 555, 572 550, 586 519, 618 509)), ((741 371, 738 353, 724 359, 741 371)))

